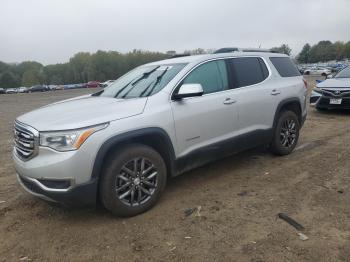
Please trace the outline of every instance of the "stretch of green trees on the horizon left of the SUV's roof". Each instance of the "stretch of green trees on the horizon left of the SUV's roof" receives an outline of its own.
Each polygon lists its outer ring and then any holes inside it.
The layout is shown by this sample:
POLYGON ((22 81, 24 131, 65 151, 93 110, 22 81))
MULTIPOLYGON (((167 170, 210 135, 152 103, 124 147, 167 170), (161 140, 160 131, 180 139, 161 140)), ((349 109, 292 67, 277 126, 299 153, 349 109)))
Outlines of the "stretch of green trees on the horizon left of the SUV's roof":
POLYGON ((0 61, 0 87, 30 87, 36 84, 61 85, 116 79, 139 65, 168 58, 160 52, 133 50, 80 52, 67 63, 42 65, 35 61, 7 64, 0 61))

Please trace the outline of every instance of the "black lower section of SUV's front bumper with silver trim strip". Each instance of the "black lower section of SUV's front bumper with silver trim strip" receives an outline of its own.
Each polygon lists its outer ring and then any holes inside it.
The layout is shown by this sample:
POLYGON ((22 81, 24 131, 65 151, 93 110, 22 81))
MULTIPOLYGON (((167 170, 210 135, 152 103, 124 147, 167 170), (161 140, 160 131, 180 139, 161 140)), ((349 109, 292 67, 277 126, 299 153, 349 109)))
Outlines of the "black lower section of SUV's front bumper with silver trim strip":
POLYGON ((97 199, 97 179, 72 187, 65 191, 47 190, 38 180, 17 174, 21 186, 30 194, 46 201, 58 202, 67 206, 95 206, 97 199))

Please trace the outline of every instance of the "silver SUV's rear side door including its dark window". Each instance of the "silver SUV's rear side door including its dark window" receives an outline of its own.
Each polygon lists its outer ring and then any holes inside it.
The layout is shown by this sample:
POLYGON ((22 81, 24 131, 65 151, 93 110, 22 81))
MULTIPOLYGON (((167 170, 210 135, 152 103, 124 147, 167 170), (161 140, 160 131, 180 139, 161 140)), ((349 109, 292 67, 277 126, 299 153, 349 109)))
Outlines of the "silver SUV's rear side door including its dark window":
POLYGON ((271 85, 265 61, 260 57, 232 58, 231 71, 240 133, 259 134, 258 131, 271 129, 280 90, 271 85))

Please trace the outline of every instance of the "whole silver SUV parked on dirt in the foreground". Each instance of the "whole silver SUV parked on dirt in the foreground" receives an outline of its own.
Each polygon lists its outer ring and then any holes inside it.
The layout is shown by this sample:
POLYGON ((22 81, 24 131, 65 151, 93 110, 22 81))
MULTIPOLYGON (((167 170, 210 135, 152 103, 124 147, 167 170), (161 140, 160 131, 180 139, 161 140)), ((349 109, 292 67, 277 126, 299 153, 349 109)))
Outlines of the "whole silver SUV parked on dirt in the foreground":
POLYGON ((115 215, 133 216, 154 206, 168 177, 264 144, 291 153, 306 118, 306 91, 281 54, 146 64, 98 93, 18 117, 18 180, 46 200, 99 200, 115 215))

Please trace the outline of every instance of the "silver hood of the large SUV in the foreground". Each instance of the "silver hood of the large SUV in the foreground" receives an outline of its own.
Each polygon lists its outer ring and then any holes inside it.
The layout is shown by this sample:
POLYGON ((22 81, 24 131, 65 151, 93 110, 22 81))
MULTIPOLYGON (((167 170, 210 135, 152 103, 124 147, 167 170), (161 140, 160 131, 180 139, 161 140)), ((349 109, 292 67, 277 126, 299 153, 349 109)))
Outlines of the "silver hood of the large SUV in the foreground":
POLYGON ((17 118, 38 131, 76 129, 141 114, 147 98, 82 96, 50 104, 17 118))

